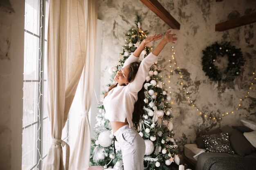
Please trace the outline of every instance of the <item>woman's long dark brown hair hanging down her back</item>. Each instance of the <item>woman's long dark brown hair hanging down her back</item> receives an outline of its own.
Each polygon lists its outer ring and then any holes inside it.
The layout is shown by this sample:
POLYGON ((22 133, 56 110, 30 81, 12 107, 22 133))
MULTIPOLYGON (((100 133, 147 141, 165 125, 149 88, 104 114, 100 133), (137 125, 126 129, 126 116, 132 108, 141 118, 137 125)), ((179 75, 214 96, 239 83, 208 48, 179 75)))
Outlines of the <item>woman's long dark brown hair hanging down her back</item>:
MULTIPOLYGON (((130 73, 127 76, 128 82, 131 82, 135 79, 136 73, 138 72, 139 69, 139 62, 132 62, 131 64, 128 65, 128 68, 130 69, 130 73)), ((113 88, 117 87, 118 83, 112 84, 109 86, 108 91, 104 94, 104 98, 108 95, 108 92, 111 91, 113 88)), ((121 84, 121 86, 126 86, 126 84, 121 84)), ((134 110, 132 113, 132 122, 133 122, 133 127, 135 130, 138 130, 139 128, 139 121, 142 119, 143 120, 143 114, 144 110, 143 107, 145 105, 144 94, 145 88, 142 86, 141 90, 138 92, 138 100, 134 104, 134 110)))

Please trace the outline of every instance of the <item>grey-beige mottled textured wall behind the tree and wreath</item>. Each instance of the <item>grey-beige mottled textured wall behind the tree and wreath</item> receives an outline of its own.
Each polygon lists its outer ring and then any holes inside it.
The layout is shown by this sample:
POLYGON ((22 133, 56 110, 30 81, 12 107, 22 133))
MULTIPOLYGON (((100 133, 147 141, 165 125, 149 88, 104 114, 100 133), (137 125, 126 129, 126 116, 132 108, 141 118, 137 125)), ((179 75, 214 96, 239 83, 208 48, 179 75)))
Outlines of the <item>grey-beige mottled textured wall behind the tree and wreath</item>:
MULTIPOLYGON (((190 99, 202 110, 203 114, 231 112, 236 109, 241 97, 245 97, 252 82, 250 73, 256 66, 256 23, 240 26, 228 31, 215 32, 215 24, 231 18, 255 12, 255 0, 159 0, 159 2, 180 22, 177 34, 175 57, 177 65, 184 74, 183 83, 188 86, 190 99), (236 48, 241 48, 246 60, 242 73, 234 82, 213 82, 202 71, 202 50, 214 42, 231 41, 236 48)), ((98 0, 98 17, 103 21, 103 44, 101 51, 101 91, 106 90, 110 74, 108 68, 119 59, 121 46, 124 45, 126 31, 134 25, 135 14, 143 19, 142 27, 153 33, 164 33, 170 29, 160 18, 139 0, 98 0)), ((159 54, 159 68, 162 69, 164 81, 168 84, 171 44, 159 54)), ((225 62, 220 64, 225 66, 225 62)), ((193 143, 202 131, 225 125, 240 125, 240 119, 256 121, 256 93, 252 85, 247 99, 241 102, 239 110, 229 114, 221 121, 213 121, 199 114, 197 108, 189 106, 182 86, 180 75, 171 75, 171 97, 173 107, 173 124, 175 138, 180 141, 180 148, 186 143, 193 143)))

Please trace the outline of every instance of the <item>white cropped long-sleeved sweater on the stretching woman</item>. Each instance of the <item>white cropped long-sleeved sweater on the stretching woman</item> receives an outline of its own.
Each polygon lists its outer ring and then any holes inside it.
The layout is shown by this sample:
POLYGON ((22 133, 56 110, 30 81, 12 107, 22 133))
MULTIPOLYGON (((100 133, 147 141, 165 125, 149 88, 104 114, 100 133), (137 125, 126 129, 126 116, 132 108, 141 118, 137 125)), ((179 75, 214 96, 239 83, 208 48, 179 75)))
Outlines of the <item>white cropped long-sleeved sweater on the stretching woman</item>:
MULTIPOLYGON (((128 66, 132 62, 137 62, 139 57, 130 55, 124 62, 124 66, 128 66)), ((113 88, 108 92, 108 95, 103 100, 103 105, 106 111, 105 118, 109 121, 127 121, 129 127, 133 127, 132 113, 134 110, 134 104, 138 99, 138 92, 141 90, 143 83, 146 80, 150 66, 157 61, 157 56, 153 53, 148 54, 144 60, 142 60, 135 79, 127 86, 119 86, 113 88)))

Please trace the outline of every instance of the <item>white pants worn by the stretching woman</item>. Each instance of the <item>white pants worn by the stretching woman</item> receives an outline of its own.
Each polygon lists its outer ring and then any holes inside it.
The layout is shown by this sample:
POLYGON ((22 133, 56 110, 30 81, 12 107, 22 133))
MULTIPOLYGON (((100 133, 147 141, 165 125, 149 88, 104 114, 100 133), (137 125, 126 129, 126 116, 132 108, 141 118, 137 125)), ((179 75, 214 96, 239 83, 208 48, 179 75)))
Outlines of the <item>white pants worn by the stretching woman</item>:
POLYGON ((119 128, 114 135, 123 155, 124 170, 144 170, 146 145, 144 139, 129 125, 119 128))

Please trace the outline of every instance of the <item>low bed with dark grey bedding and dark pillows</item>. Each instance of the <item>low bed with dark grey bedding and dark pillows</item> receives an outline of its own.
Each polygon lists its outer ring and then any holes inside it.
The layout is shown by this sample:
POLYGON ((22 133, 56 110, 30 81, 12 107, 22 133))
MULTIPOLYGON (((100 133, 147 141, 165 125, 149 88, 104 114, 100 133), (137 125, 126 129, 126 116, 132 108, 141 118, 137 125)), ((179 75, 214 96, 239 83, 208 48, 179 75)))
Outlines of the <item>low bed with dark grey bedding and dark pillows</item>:
MULTIPOLYGON (((201 141, 202 137, 205 139, 214 135, 228 135, 227 141, 230 142, 231 151, 225 153, 210 150, 209 152, 208 144, 204 146, 197 139, 197 144, 184 146, 184 161, 192 170, 256 170, 256 147, 254 141, 247 140, 245 132, 255 134, 256 131, 244 126, 232 126, 232 128, 225 126, 202 135, 201 141)), ((210 141, 214 140, 210 139, 210 141)))

